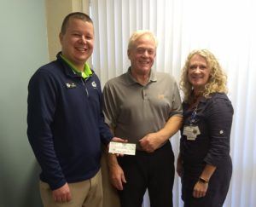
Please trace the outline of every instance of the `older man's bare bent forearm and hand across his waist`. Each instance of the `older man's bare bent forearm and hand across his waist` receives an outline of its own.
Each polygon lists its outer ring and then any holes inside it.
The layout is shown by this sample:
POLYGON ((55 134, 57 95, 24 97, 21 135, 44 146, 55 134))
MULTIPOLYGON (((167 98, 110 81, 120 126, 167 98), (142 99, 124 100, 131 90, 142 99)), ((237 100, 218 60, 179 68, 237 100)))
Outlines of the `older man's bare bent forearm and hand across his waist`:
POLYGON ((154 150, 163 146, 163 144, 174 135, 182 125, 183 118, 174 115, 168 119, 163 129, 155 133, 145 135, 139 142, 146 152, 154 152, 154 150))

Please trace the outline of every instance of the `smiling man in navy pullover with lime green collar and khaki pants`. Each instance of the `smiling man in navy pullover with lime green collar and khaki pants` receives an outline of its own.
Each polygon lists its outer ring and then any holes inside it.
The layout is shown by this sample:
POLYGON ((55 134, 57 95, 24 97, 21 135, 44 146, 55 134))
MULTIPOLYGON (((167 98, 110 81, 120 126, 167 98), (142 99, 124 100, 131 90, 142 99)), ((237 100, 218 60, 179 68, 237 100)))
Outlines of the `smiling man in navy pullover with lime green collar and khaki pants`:
POLYGON ((42 168, 44 206, 102 206, 101 145, 113 137, 102 115, 102 89, 86 61, 94 27, 87 14, 68 14, 61 52, 28 85, 27 135, 42 168))

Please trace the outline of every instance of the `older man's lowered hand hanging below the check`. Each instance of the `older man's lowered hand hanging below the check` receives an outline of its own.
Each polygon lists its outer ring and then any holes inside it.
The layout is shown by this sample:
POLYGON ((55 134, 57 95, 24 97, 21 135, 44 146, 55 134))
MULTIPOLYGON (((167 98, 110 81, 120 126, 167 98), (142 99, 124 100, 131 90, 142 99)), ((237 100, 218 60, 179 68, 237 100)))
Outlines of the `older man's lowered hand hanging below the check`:
POLYGON ((126 183, 125 174, 119 164, 113 164, 109 167, 110 181, 113 187, 119 191, 123 190, 123 182, 126 183))

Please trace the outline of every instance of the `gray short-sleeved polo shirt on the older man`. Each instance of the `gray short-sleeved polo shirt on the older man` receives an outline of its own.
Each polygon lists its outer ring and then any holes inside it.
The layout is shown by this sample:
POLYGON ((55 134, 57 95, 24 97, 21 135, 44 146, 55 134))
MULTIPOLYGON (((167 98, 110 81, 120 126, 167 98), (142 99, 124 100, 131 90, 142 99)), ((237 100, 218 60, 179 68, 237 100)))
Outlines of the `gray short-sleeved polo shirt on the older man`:
POLYGON ((177 83, 168 73, 150 72, 146 85, 137 83, 130 69, 109 80, 103 89, 105 122, 115 136, 137 144, 148 133, 164 127, 172 116, 182 116, 177 83))

